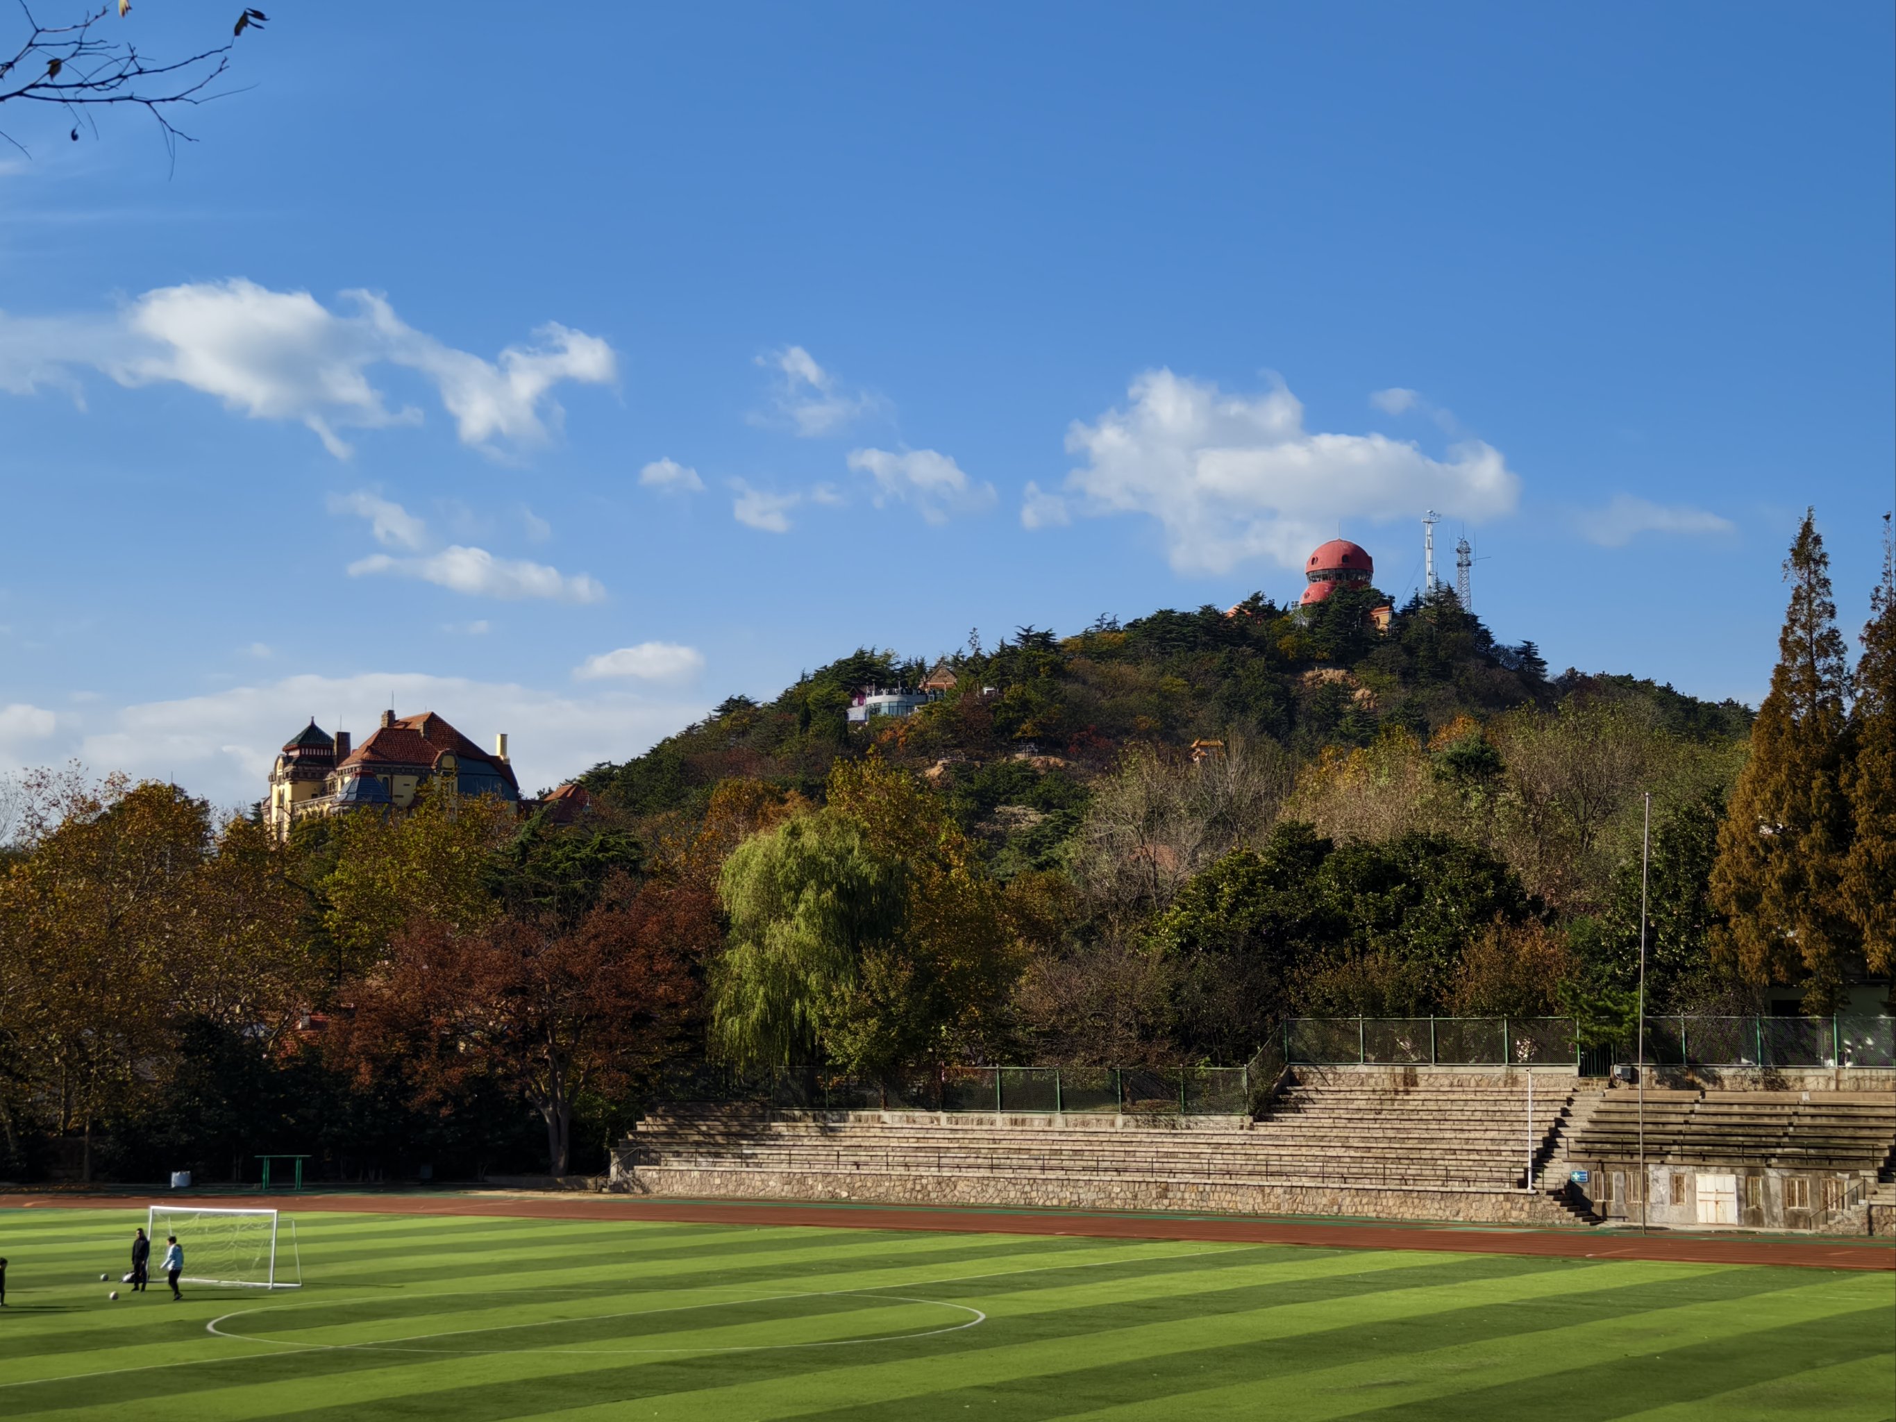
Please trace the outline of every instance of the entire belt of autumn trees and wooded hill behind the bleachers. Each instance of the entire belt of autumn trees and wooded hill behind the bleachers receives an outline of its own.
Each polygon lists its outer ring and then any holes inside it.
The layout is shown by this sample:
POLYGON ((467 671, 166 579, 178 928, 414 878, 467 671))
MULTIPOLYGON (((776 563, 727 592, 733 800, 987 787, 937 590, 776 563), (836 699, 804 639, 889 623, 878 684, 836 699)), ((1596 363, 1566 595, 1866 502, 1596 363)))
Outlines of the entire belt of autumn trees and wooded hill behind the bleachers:
POLYGON ((428 793, 279 840, 34 775, 0 1174, 584 1170, 702 1066, 1236 1064, 1285 1014, 1625 1041, 1642 925, 1650 1011, 1862 1011, 1896 967, 1896 569, 1854 669, 1811 520, 1786 578, 1756 717, 1339 590, 857 650, 597 766, 578 817, 428 793))

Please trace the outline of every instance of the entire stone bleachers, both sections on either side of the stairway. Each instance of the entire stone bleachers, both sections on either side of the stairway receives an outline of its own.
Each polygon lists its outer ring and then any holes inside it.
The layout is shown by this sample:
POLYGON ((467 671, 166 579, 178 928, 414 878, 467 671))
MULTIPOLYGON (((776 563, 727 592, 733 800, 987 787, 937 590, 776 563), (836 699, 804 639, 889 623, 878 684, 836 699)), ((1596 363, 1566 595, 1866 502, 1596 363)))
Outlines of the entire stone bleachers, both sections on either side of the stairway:
MULTIPOLYGON (((1655 1170, 1801 1172, 1813 1198, 1818 1176, 1850 1177, 1852 1208, 1892 1177, 1890 1092, 1650 1088, 1644 1115, 1655 1170)), ((612 1181, 690 1196, 1574 1223, 1600 1215, 1570 1172, 1623 1177, 1636 1155, 1627 1088, 1536 1071, 1530 1119, 1521 1071, 1299 1067, 1255 1121, 673 1105, 637 1124, 612 1181)))

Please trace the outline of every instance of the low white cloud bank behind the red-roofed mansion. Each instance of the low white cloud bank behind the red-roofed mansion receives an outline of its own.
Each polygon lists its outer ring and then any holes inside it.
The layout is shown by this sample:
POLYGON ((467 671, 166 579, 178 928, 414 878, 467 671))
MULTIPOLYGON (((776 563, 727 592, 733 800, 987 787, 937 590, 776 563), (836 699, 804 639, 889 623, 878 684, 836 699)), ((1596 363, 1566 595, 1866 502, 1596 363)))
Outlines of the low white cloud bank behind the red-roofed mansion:
MULTIPOLYGON (((696 700, 629 690, 574 696, 413 671, 301 675, 116 711, 97 707, 83 717, 61 715, 61 734, 40 734, 32 762, 59 764, 78 757, 95 774, 123 770, 176 779, 193 794, 239 806, 264 796, 277 749, 309 724, 309 717, 332 734, 355 732, 360 745, 391 696, 402 715, 438 711, 480 745, 493 745, 495 732, 508 732, 514 770, 529 794, 599 760, 639 755, 709 711, 696 700)), ((0 728, 6 715, 0 711, 0 728)), ((34 719, 34 724, 44 720, 34 719)), ((13 747, 0 739, 0 770, 8 749, 13 747)), ((11 762, 21 758, 21 749, 13 749, 11 762)))

